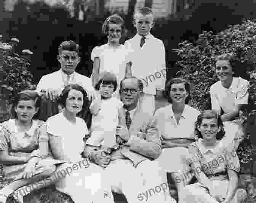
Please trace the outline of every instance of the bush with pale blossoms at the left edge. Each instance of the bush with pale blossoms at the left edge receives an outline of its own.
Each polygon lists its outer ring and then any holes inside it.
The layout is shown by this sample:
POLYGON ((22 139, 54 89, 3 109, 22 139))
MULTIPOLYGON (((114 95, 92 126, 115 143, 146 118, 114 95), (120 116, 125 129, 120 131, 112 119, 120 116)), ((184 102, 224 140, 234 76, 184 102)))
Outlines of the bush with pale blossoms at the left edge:
POLYGON ((10 116, 7 111, 14 95, 24 89, 34 89, 32 75, 27 70, 30 66, 29 50, 23 50, 21 54, 15 52, 19 40, 12 38, 10 43, 0 42, 0 122, 10 116))

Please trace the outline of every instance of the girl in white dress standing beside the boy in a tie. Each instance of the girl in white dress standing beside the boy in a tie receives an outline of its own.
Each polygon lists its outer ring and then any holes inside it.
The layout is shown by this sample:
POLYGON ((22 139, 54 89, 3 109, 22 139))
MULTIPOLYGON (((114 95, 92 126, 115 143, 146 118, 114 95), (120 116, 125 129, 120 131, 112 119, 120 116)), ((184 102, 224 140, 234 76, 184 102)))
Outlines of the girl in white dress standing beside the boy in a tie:
POLYGON ((131 76, 131 51, 119 42, 125 32, 124 24, 125 21, 117 14, 107 17, 102 25, 102 33, 107 35, 108 42, 94 47, 91 52, 93 87, 99 81, 99 74, 102 71, 112 72, 117 76, 118 88, 115 91, 115 97, 117 98, 119 98, 120 81, 131 76))

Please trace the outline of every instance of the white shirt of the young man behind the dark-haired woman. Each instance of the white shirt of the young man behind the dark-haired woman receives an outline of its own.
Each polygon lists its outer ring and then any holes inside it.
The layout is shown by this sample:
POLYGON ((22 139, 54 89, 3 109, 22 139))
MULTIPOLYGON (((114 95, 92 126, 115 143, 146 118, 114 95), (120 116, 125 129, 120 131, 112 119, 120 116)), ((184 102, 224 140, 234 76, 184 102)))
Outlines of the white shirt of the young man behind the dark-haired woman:
POLYGON ((62 70, 58 70, 53 73, 42 76, 42 78, 37 84, 36 91, 37 93, 40 93, 41 90, 57 89, 58 95, 60 95, 61 91, 68 84, 78 84, 82 86, 89 95, 95 94, 95 90, 92 86, 90 78, 81 75, 77 72, 74 72, 70 76, 67 76, 65 73, 63 73, 62 70))

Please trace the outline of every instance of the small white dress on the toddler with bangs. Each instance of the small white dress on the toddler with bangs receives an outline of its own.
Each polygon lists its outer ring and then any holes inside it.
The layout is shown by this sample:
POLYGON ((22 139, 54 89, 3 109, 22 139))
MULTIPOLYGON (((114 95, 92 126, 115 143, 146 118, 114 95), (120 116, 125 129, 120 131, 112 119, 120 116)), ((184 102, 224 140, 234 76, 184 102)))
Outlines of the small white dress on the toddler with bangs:
POLYGON ((116 144, 115 130, 118 125, 118 110, 122 107, 122 101, 116 97, 101 100, 98 113, 93 115, 91 136, 86 144, 106 147, 113 147, 116 144))

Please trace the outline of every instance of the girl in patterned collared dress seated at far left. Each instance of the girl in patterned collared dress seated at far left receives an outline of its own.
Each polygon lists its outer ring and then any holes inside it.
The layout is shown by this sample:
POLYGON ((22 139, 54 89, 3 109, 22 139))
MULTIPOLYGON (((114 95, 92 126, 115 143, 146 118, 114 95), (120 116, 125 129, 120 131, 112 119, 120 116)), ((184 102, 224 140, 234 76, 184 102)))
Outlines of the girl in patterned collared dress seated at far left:
POLYGON ((54 164, 59 163, 49 156, 42 157, 38 149, 39 140, 46 134, 45 122, 35 120, 39 106, 36 92, 19 92, 13 102, 15 119, 0 124, 0 162, 4 178, 10 182, 0 190, 0 203, 20 187, 51 176, 56 169, 54 164))

